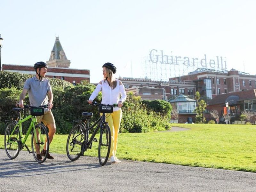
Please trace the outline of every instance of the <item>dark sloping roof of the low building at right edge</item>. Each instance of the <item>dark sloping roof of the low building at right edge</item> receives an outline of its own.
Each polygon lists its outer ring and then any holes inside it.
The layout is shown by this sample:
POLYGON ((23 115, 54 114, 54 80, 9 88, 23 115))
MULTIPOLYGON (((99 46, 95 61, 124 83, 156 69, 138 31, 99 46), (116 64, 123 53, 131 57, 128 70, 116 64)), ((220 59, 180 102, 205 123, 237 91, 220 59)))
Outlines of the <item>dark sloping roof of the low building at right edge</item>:
POLYGON ((228 102, 228 100, 241 101, 241 100, 247 100, 247 99, 256 99, 256 89, 239 91, 239 92, 231 92, 227 94, 220 94, 215 96, 212 100, 210 100, 208 102, 208 105, 217 105, 217 104, 225 105, 225 103, 228 102), (230 97, 230 96, 237 96, 239 99, 237 97, 230 97))

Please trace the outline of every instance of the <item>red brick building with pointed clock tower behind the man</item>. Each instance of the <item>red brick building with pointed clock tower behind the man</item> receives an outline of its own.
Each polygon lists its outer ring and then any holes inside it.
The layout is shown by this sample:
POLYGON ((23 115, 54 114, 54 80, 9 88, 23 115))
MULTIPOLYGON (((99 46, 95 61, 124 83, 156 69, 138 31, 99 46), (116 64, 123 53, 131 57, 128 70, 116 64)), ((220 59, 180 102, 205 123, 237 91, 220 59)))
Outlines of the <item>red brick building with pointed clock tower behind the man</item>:
MULTIPOLYGON (((59 37, 56 37, 50 58, 46 63, 49 66, 46 77, 62 79, 73 84, 80 83, 82 80, 90 82, 90 70, 69 68, 70 60, 67 59, 67 56, 60 44, 59 37)), ((33 66, 29 65, 3 64, 2 70, 30 75, 36 74, 33 66)))

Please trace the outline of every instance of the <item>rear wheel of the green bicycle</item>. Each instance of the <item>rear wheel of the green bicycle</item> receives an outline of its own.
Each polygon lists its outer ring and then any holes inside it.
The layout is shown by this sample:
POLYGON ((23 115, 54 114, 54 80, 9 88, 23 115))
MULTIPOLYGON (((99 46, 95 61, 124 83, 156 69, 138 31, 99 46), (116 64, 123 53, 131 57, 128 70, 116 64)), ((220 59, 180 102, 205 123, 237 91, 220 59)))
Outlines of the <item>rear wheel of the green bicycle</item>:
POLYGON ((4 148, 10 159, 15 159, 20 153, 20 131, 18 127, 14 129, 15 126, 15 123, 8 124, 4 133, 4 148))

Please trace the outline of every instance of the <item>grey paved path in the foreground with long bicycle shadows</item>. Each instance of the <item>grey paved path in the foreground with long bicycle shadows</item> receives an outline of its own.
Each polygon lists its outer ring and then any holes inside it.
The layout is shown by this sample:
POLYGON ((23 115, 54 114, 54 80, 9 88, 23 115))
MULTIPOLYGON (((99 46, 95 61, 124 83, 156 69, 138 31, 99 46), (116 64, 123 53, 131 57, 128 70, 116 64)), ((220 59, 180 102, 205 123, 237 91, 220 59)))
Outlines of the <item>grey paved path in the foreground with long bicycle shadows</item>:
POLYGON ((129 160, 100 166, 95 157, 53 155, 38 164, 27 151, 10 160, 0 149, 0 191, 256 191, 256 173, 129 160))

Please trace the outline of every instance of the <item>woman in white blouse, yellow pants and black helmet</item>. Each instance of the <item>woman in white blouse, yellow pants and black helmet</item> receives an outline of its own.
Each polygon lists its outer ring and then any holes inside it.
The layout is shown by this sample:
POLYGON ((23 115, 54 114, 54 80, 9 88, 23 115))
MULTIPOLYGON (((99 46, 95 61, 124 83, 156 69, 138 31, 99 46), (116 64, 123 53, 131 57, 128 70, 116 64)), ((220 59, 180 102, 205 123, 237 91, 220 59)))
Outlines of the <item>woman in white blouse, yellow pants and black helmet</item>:
POLYGON ((94 92, 92 92, 91 97, 88 100, 89 104, 97 97, 98 93, 102 92, 102 104, 116 104, 118 107, 113 109, 113 113, 106 116, 106 121, 110 127, 111 131, 111 148, 110 148, 110 163, 121 163, 121 161, 116 157, 117 149, 117 137, 119 132, 119 127, 122 119, 122 109, 123 102, 126 99, 126 92, 124 90, 124 85, 122 82, 114 77, 113 74, 116 73, 116 67, 112 63, 105 63, 102 66, 103 80, 97 85, 94 92), (121 99, 120 99, 121 94, 121 99))

